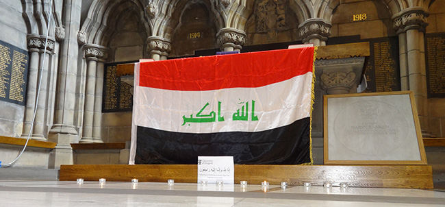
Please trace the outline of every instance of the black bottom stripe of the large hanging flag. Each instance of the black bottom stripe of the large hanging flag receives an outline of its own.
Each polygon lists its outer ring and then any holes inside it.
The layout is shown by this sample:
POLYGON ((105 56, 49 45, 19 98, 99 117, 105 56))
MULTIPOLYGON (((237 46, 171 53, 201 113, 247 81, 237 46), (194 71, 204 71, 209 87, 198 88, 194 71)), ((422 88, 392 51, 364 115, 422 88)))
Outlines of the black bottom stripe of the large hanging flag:
POLYGON ((246 165, 298 165, 310 160, 310 118, 262 132, 194 134, 138 126, 136 164, 197 164, 198 156, 233 156, 246 165))

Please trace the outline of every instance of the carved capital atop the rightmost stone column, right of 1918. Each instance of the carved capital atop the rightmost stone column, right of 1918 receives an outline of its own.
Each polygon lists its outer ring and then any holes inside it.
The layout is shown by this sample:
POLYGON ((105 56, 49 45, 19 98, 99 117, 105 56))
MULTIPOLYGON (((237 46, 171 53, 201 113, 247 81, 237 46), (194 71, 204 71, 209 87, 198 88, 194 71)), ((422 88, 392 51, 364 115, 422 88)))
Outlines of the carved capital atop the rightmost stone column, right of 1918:
POLYGON ((409 29, 418 29, 420 32, 425 32, 425 28, 428 26, 428 16, 429 13, 422 8, 403 10, 392 16, 393 27, 398 34, 409 29))

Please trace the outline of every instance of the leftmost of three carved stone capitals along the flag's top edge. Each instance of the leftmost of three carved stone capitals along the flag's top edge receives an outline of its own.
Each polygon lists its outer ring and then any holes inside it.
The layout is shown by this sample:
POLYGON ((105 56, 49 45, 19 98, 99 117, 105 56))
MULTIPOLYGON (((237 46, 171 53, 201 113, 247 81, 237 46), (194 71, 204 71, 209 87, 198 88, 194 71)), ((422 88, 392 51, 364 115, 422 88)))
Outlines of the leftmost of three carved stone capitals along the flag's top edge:
POLYGON ((150 36, 147 38, 147 51, 149 51, 151 59, 155 61, 167 60, 168 53, 171 51, 171 43, 167 39, 150 36))

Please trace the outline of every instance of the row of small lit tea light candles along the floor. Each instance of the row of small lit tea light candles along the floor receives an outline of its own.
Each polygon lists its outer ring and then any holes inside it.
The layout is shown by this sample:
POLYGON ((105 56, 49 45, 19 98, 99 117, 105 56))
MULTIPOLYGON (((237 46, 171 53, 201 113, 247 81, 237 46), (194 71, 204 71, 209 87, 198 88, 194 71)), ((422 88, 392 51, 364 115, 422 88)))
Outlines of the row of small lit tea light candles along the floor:
MULTIPOLYGON (((105 178, 101 178, 99 179, 99 184, 105 184, 105 178)), ((135 184, 138 183, 139 180, 136 178, 131 179, 131 183, 135 184)), ((84 179, 83 178, 77 178, 77 184, 83 184, 84 183, 84 179)), ((173 179, 168 179, 167 180, 167 184, 168 186, 173 186, 175 184, 175 180, 173 179)), ((218 186, 223 186, 224 182, 223 180, 217 180, 216 181, 216 185, 218 186)), ((207 180, 201 180, 201 185, 207 185, 207 180)), ((247 186, 247 181, 246 180, 242 180, 240 181, 240 185, 245 187, 247 186)), ((269 182, 267 182, 266 180, 264 180, 263 182, 261 182, 261 186, 262 188, 269 188, 269 182)), ((312 186, 312 183, 310 182, 303 182, 303 186, 305 186, 306 188, 309 188, 312 186)), ((332 183, 331 182, 325 182, 323 183, 323 186, 325 188, 331 188, 332 187, 332 183)), ((346 182, 340 182, 340 188, 348 188, 349 184, 346 182)), ((288 188, 288 182, 281 182, 281 188, 285 189, 288 188)))

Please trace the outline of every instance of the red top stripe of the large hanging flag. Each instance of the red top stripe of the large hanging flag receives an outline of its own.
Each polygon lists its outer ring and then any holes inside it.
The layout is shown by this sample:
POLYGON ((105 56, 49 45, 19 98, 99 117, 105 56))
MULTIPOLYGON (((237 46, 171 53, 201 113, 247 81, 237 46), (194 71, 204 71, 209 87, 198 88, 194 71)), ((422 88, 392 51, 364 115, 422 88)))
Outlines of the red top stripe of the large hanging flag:
POLYGON ((254 88, 312 72, 314 47, 140 64, 140 86, 166 90, 254 88))

